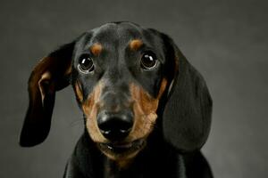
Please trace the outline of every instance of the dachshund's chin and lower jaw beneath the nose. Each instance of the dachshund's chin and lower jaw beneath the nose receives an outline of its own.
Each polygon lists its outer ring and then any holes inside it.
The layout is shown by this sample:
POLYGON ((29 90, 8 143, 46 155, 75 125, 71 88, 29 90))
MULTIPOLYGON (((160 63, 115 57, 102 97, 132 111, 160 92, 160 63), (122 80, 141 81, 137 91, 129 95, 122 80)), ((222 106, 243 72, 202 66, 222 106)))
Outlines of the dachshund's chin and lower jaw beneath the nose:
POLYGON ((138 139, 133 142, 97 143, 99 150, 113 160, 134 158, 145 145, 146 140, 144 139, 138 139))

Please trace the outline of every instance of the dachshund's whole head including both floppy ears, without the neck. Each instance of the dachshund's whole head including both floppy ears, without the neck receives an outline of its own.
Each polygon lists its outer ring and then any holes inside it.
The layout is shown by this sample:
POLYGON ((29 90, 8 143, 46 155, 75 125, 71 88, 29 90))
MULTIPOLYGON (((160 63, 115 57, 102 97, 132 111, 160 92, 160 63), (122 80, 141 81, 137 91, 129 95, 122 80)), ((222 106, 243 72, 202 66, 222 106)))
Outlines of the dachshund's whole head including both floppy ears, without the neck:
POLYGON ((203 77, 169 36, 108 23, 48 54, 29 77, 21 146, 46 139, 56 91, 71 84, 93 142, 109 158, 131 158, 157 128, 180 151, 202 147, 212 101, 203 77))

